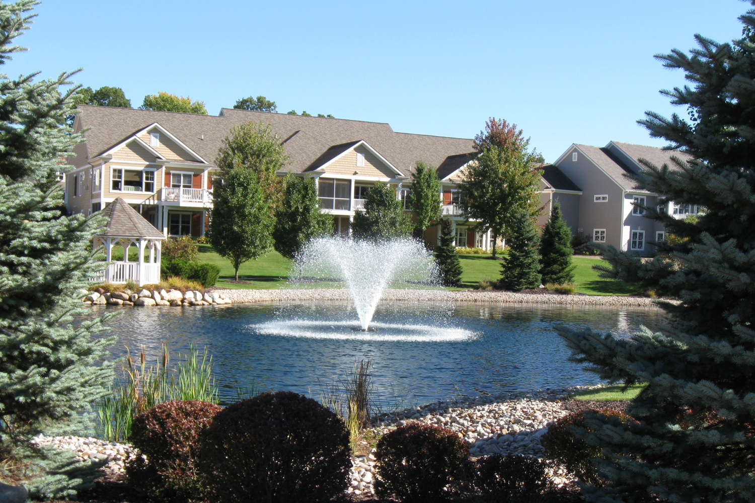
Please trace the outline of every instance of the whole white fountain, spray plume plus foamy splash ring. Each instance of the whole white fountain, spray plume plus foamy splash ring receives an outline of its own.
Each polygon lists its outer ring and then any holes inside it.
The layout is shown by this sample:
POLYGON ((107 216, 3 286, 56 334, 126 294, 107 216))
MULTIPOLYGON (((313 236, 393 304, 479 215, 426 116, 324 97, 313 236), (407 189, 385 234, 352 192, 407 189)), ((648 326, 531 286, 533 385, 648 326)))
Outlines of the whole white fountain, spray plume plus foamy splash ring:
MULTIPOLYGON (((297 314, 285 312, 276 321, 255 325, 253 328, 257 333, 393 342, 451 342, 475 335, 470 330, 448 324, 442 316, 428 320, 427 313, 432 309, 427 304, 423 306, 424 319, 421 322, 406 319, 405 323, 373 323, 375 309, 388 287, 440 288, 435 260, 421 241, 408 238, 387 241, 319 238, 311 241, 297 256, 294 273, 294 278, 308 284, 342 282, 359 317, 359 326, 354 327, 355 322, 349 320, 301 319, 297 314)), ((444 310, 448 307, 445 306, 444 310)))

